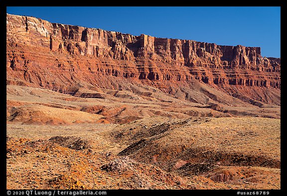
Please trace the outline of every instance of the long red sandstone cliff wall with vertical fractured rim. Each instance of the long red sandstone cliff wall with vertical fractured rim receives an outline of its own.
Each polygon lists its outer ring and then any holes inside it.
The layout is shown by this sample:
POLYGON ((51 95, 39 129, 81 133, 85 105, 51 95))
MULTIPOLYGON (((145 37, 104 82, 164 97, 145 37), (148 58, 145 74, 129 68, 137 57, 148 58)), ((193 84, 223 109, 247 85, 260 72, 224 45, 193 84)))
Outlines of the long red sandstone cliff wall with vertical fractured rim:
POLYGON ((134 36, 6 15, 7 85, 72 94, 79 86, 120 90, 122 81, 173 94, 199 82, 243 100, 280 105, 280 71, 281 59, 262 57, 260 47, 134 36))

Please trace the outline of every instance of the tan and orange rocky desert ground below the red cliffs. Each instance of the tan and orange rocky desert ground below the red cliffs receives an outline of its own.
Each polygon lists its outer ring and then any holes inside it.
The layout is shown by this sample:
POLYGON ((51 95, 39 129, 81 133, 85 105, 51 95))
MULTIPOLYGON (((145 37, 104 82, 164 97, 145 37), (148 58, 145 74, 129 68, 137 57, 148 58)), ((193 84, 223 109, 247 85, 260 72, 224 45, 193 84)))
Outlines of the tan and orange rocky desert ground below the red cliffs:
POLYGON ((281 189, 280 119, 105 95, 8 85, 6 188, 281 189))

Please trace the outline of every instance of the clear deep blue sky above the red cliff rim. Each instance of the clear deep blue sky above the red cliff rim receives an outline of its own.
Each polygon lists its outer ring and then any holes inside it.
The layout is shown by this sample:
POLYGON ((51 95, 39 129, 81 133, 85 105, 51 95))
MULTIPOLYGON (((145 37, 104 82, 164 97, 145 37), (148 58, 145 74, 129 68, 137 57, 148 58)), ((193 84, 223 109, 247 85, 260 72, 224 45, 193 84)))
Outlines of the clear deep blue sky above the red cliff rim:
POLYGON ((261 47, 281 57, 281 7, 6 7, 7 13, 133 35, 261 47))

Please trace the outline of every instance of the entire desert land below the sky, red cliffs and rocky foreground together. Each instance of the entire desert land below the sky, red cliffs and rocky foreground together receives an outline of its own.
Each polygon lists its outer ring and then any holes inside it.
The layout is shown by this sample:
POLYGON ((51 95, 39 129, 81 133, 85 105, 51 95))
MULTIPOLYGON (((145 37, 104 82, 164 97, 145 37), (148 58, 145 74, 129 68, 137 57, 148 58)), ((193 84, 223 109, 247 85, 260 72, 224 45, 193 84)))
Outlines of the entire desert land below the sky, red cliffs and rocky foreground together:
POLYGON ((6 16, 7 189, 280 189, 281 60, 6 16))

